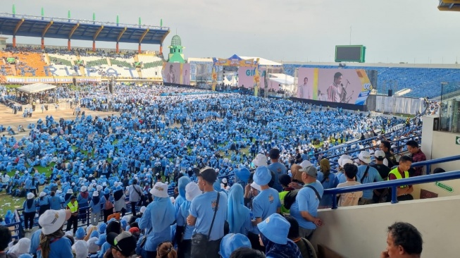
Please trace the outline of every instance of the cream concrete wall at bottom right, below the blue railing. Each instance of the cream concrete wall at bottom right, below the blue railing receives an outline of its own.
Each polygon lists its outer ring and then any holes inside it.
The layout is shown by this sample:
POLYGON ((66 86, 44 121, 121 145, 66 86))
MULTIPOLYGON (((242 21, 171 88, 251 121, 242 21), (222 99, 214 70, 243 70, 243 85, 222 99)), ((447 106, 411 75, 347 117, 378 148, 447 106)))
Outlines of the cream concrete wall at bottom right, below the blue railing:
POLYGON ((422 257, 459 257, 459 207, 460 197, 455 196, 321 210, 318 216, 325 224, 312 242, 348 258, 380 257, 387 247, 387 226, 404 221, 422 233, 422 257))

